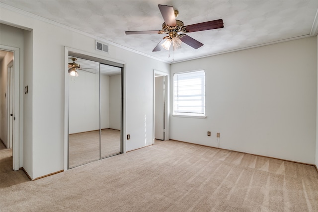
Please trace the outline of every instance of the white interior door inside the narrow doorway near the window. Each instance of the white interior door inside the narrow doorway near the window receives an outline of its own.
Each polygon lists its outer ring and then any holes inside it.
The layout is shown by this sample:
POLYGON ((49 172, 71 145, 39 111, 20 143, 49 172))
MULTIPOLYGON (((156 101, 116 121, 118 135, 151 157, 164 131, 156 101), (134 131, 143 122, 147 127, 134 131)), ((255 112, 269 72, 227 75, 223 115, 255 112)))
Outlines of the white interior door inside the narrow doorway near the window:
POLYGON ((155 139, 164 140, 164 76, 155 77, 155 139))

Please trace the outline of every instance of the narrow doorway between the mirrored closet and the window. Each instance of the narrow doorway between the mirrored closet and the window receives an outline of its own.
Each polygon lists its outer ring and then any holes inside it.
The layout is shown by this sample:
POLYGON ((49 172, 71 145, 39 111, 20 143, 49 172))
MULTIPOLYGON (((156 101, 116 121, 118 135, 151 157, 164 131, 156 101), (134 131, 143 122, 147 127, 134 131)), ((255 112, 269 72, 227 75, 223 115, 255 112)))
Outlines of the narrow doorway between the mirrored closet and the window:
POLYGON ((154 141, 168 140, 168 75, 154 70, 154 141))

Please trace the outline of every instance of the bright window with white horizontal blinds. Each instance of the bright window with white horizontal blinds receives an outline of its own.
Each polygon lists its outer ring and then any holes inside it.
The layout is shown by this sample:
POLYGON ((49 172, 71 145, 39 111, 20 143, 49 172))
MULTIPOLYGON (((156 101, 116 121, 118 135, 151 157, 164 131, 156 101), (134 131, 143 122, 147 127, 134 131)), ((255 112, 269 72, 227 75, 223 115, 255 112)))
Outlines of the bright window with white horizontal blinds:
POLYGON ((173 115, 205 116, 205 71, 175 73, 173 115))

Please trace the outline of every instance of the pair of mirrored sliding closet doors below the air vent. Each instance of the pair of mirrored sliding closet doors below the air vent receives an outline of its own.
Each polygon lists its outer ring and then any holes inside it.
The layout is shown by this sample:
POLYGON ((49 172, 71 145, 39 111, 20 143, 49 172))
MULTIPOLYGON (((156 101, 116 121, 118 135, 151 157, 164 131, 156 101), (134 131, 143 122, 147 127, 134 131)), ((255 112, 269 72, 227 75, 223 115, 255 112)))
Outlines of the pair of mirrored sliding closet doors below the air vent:
POLYGON ((77 53, 69 58, 69 168, 74 168, 122 153, 123 69, 77 53))

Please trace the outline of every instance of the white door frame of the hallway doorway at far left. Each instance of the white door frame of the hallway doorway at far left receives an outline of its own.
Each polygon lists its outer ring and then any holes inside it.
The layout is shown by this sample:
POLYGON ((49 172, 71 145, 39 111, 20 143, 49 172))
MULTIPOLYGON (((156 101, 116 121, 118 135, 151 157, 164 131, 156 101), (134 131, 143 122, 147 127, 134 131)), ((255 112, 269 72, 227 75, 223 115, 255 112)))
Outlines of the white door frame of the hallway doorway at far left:
MULTIPOLYGON (((19 170, 20 153, 20 141, 22 136, 22 127, 20 126, 20 49, 11 46, 0 45, 0 50, 13 52, 13 145, 12 145, 12 169, 14 171, 19 170)), ((10 117, 10 113, 7 110, 7 119, 10 117)), ((21 123, 22 124, 22 123, 21 123)), ((8 126, 9 127, 9 126, 8 126)), ((21 151, 22 152, 22 151, 21 151)))

